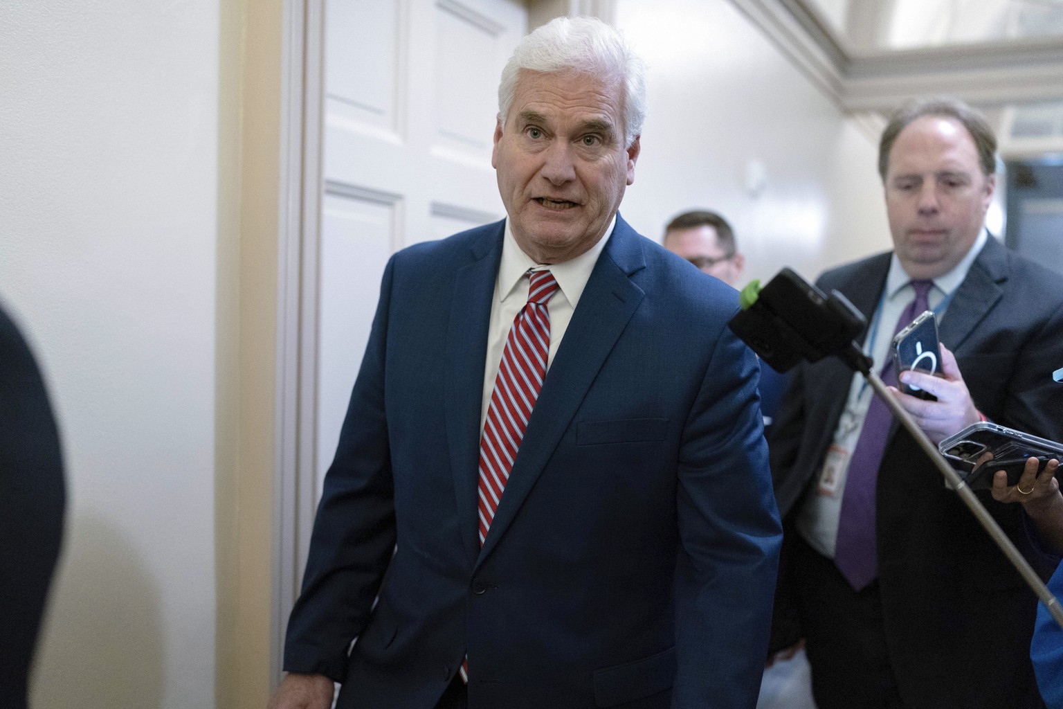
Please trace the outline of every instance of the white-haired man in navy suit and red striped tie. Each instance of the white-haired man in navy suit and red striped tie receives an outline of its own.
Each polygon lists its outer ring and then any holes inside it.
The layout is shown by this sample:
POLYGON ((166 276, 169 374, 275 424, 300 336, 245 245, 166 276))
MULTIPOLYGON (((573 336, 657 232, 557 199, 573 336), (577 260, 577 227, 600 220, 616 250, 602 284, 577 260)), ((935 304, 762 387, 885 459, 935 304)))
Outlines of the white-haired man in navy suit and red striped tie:
POLYGON ((272 707, 334 680, 343 708, 754 706, 780 541, 757 361, 735 291, 617 212, 643 105, 597 20, 517 49, 508 218, 388 264, 272 707))

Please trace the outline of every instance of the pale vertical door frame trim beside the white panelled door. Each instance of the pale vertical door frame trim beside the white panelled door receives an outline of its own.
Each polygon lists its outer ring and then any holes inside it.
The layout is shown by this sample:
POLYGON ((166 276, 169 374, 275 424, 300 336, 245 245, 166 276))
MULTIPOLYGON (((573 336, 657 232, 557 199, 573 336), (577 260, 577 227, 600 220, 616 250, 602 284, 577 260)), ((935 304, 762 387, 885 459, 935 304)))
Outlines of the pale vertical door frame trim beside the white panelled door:
POLYGON ((270 677, 282 675, 315 500, 324 0, 285 0, 281 81, 270 677))

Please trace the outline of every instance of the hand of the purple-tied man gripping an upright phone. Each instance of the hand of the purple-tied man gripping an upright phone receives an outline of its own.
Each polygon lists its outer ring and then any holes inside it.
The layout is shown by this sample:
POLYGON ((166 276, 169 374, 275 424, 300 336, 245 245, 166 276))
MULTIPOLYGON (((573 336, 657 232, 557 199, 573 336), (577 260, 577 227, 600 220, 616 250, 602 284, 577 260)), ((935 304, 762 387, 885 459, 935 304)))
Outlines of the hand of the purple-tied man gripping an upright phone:
POLYGON ((901 383, 914 385, 938 398, 935 402, 926 401, 890 387, 900 405, 934 443, 981 421, 956 357, 945 345, 941 348, 941 376, 910 370, 901 372, 899 378, 901 383))

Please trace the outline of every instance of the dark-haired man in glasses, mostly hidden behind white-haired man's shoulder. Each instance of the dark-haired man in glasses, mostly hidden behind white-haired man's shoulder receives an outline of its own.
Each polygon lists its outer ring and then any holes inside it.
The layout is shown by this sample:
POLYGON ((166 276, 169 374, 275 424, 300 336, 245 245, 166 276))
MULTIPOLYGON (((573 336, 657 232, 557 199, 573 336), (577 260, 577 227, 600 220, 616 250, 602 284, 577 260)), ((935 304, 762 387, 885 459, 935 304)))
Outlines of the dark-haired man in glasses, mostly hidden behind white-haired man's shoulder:
MULTIPOLYGON (((664 227, 664 248, 731 288, 741 290, 745 285, 745 256, 735 243, 731 225, 715 212, 685 212, 670 221, 664 227)), ((784 385, 786 377, 760 362, 760 412, 765 432, 771 429, 784 385)))

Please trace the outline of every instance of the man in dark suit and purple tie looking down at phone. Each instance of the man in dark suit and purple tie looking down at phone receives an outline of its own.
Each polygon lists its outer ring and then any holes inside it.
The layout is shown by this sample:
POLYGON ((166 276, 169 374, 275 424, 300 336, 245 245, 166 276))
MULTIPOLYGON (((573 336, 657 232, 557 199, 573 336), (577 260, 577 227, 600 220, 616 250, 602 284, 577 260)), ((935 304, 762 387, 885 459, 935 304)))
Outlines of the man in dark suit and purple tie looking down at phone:
MULTIPOLYGON (((879 146, 893 252, 817 282, 864 314, 864 351, 894 383, 894 333, 934 313, 942 376, 900 381, 937 401, 893 395, 935 442, 985 419, 1063 434, 1050 377, 1063 359, 1063 289, 985 231, 995 150, 984 118, 959 101, 900 108, 879 146)), ((1034 595, 862 377, 833 357, 795 369, 771 446, 786 518, 781 590, 820 709, 1042 706, 1029 659, 1034 595)), ((1049 570, 1022 507, 979 495, 1049 570)))

